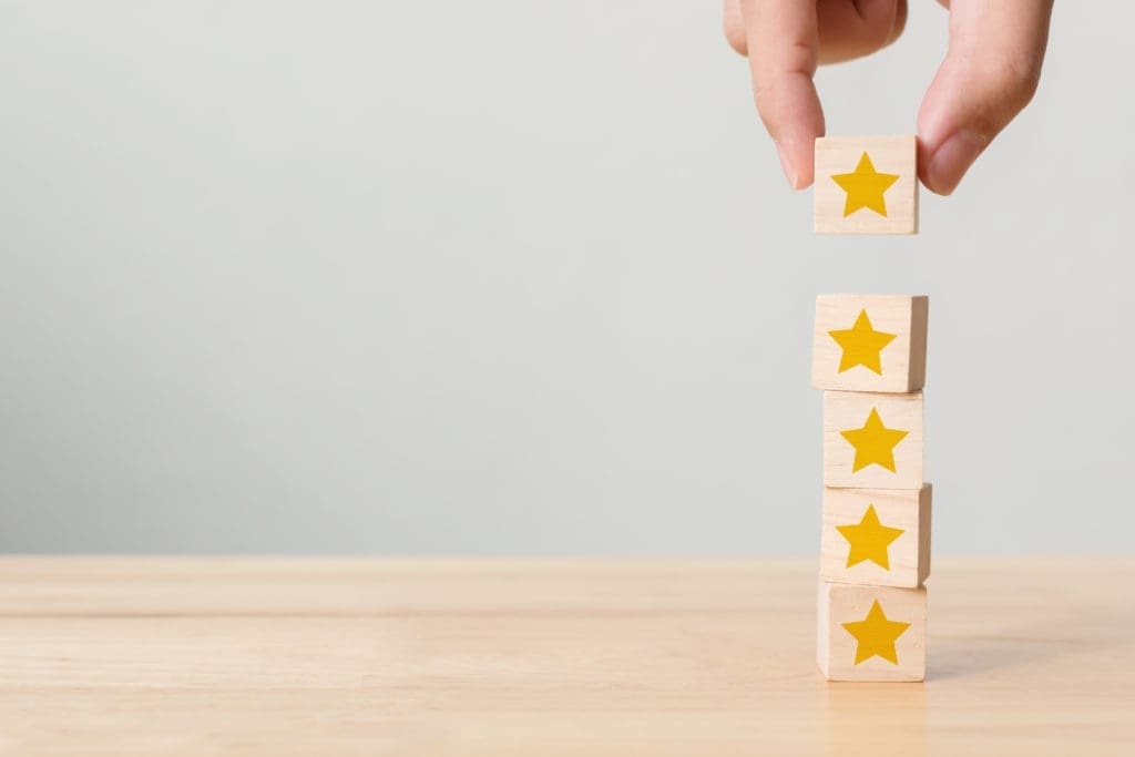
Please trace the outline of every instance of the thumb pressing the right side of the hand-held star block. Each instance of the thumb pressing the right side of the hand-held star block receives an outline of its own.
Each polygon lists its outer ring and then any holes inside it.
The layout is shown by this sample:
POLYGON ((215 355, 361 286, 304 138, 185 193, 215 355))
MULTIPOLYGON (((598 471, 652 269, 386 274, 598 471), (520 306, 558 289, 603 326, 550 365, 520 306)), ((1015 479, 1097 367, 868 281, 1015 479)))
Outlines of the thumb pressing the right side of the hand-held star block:
POLYGON ((952 0, 950 49, 918 113, 923 184, 950 194, 1036 91, 1052 0, 952 0))

